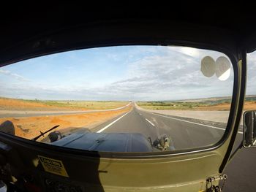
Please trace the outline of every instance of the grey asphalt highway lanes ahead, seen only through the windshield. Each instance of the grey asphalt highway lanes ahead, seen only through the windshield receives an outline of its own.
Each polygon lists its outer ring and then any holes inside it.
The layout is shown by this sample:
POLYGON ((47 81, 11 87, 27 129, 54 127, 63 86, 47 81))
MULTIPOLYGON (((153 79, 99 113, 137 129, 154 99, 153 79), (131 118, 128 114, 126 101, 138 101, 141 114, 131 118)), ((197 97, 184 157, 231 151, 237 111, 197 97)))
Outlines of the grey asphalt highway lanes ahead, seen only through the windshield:
POLYGON ((151 137, 170 137, 176 150, 213 145, 221 139, 224 128, 195 123, 168 115, 145 112, 133 107, 129 112, 92 129, 106 133, 140 133, 151 137))

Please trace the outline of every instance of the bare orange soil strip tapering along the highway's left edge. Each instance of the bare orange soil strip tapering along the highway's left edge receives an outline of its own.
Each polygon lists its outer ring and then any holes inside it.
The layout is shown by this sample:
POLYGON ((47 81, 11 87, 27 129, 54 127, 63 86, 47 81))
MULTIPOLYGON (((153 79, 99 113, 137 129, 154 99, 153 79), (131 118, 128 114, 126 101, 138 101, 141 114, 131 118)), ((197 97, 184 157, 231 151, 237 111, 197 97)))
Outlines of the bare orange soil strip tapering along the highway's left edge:
MULTIPOLYGON (((47 131, 53 126, 60 125, 55 130, 65 129, 78 130, 78 128, 93 128, 94 126, 104 123, 107 120, 117 117, 131 110, 132 106, 122 110, 106 111, 106 112, 90 112, 86 114, 74 115, 56 115, 29 118, 0 118, 0 123, 10 120, 15 126, 15 135, 26 139, 33 139, 39 135, 39 131, 47 131)), ((46 134, 45 136, 47 136, 46 134)), ((42 137, 43 139, 43 137, 42 137)))

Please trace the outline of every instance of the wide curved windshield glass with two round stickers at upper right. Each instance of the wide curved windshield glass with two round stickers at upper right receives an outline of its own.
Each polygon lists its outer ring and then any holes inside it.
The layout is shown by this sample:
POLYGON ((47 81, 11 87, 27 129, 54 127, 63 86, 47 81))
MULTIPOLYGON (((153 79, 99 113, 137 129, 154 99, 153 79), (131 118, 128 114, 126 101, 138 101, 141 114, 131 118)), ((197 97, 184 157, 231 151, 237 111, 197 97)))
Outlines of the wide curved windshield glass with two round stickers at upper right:
POLYGON ((18 137, 83 150, 187 150, 222 138, 233 67, 223 53, 192 47, 99 47, 1 67, 0 90, 0 129, 18 137))

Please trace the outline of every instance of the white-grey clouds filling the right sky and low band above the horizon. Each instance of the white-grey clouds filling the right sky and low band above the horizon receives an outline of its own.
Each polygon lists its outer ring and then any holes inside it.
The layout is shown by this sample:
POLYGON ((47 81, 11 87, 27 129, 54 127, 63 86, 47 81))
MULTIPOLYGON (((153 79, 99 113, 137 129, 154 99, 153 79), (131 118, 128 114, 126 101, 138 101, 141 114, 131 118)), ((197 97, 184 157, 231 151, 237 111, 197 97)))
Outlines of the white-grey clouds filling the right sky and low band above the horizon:
MULTIPOLYGON (((215 75, 205 77, 200 72, 201 58, 210 55, 217 59, 217 57, 223 55, 222 53, 197 50, 190 47, 143 47, 141 49, 137 47, 127 53, 127 58, 129 58, 129 55, 136 58, 132 62, 129 59, 121 61, 124 56, 120 57, 118 52, 107 55, 113 61, 120 58, 120 62, 127 64, 127 72, 120 77, 120 80, 107 82, 102 79, 102 83, 94 87, 89 86, 90 82, 69 86, 33 84, 33 82, 24 83, 23 85, 0 84, 1 93, 7 96, 17 93, 20 97, 29 99, 132 99, 137 101, 195 99, 232 95, 233 73, 231 73, 228 80, 220 81, 215 75), (138 57, 139 53, 145 53, 145 55, 138 57)), ((4 72, 15 78, 23 78, 18 77, 18 74, 4 72)))

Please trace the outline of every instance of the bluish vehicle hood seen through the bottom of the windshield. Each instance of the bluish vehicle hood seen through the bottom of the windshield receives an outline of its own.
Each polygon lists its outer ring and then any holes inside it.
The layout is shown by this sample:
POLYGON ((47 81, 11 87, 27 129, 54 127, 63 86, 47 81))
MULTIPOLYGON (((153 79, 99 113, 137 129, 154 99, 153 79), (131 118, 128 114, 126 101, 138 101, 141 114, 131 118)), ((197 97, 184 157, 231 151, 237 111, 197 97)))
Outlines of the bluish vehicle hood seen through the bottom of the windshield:
POLYGON ((156 149, 142 134, 75 133, 52 145, 105 152, 152 152, 156 149))

